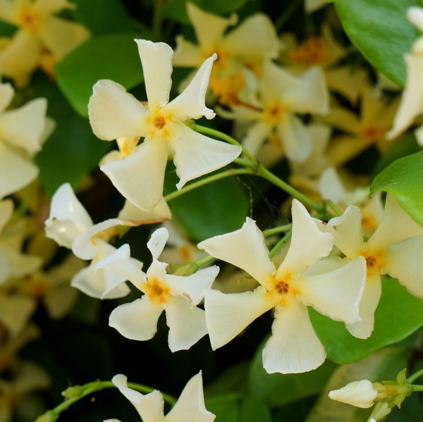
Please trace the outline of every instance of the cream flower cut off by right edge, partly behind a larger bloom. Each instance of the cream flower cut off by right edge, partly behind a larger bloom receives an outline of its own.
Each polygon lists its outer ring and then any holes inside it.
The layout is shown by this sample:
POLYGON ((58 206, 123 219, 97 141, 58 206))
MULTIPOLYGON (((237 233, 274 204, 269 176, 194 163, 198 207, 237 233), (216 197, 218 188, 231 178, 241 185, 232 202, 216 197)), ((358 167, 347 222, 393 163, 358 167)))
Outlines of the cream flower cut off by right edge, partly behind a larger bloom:
POLYGON ((349 205, 342 216, 323 225, 322 232, 333 235, 335 245, 349 259, 364 256, 367 280, 360 303, 362 321, 347 323, 351 334, 359 338, 371 335, 374 311, 381 297, 381 274, 388 274, 417 297, 423 297, 423 228, 387 194, 384 215, 372 237, 364 242, 362 213, 349 205))

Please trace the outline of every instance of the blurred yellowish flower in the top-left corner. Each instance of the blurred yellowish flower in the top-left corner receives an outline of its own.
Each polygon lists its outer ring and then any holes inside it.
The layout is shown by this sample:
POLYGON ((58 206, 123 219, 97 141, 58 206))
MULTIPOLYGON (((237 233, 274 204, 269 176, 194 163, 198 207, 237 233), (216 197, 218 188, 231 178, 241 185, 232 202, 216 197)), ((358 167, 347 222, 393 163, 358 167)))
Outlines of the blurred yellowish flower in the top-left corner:
POLYGON ((1 75, 18 86, 25 85, 38 66, 44 64, 53 73, 56 61, 88 39, 85 27, 56 15, 65 8, 75 8, 75 4, 67 0, 0 1, 0 19, 18 27, 0 48, 1 75))

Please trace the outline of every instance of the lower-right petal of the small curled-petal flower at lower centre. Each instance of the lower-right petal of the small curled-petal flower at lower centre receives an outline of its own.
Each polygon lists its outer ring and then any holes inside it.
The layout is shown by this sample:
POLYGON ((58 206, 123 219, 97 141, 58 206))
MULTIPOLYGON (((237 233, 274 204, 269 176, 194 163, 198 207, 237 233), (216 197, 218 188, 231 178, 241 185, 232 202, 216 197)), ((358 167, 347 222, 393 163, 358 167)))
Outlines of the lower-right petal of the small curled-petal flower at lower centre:
POLYGON ((191 306, 185 297, 173 297, 166 305, 169 349, 187 350, 207 334, 206 316, 202 309, 191 306))

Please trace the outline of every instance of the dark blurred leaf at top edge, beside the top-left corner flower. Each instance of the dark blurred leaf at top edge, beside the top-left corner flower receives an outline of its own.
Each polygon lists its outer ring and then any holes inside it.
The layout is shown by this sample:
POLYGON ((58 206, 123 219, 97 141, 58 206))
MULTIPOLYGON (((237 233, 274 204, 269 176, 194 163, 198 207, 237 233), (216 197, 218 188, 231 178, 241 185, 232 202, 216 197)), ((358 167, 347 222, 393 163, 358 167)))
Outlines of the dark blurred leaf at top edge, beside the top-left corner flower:
POLYGON ((74 0, 78 7, 73 12, 76 20, 85 25, 92 36, 128 32, 130 18, 125 7, 118 0, 74 0))

